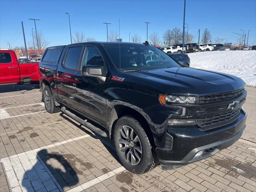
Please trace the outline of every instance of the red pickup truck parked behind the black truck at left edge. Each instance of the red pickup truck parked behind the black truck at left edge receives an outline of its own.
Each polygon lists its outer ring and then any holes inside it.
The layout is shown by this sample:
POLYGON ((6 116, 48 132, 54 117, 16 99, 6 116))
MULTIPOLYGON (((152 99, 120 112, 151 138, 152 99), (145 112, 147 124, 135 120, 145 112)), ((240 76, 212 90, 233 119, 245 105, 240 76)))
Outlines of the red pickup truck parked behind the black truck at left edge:
POLYGON ((19 63, 12 50, 0 50, 0 84, 39 82, 39 62, 19 63))

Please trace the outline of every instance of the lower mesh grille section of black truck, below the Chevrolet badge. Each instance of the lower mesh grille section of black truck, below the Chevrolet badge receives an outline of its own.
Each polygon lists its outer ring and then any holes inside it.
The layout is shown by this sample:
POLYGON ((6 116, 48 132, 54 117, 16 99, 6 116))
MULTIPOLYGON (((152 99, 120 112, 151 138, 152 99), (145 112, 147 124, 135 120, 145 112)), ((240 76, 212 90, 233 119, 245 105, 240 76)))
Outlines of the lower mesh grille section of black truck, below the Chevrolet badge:
POLYGON ((197 120, 197 125, 201 128, 206 126, 214 127, 214 125, 223 123, 226 124, 228 122, 232 122, 240 113, 241 108, 234 110, 232 112, 223 113, 215 116, 205 117, 197 120))

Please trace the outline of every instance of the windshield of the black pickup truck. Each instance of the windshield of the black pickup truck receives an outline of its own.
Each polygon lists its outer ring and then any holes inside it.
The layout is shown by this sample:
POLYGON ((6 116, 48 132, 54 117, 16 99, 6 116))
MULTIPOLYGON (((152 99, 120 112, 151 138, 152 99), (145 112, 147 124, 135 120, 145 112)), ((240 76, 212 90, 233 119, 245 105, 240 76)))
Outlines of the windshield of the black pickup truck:
POLYGON ((123 71, 180 67, 172 58, 154 46, 104 46, 116 68, 123 71))

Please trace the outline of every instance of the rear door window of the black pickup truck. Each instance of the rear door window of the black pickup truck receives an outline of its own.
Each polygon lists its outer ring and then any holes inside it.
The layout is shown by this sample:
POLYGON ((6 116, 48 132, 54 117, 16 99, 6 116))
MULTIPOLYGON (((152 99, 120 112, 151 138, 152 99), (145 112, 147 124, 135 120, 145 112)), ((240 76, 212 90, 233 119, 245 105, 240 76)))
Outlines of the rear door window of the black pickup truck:
POLYGON ((64 66, 68 69, 78 70, 82 50, 82 46, 68 48, 66 58, 64 61, 64 66))

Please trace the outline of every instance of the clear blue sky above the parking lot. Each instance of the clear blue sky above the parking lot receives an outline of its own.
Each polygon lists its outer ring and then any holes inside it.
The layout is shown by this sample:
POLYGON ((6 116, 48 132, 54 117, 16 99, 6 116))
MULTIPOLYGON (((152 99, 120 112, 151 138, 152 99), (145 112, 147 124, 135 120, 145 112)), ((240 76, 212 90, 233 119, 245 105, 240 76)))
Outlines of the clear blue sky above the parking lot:
MULTIPOLYGON (((0 47, 24 46, 21 21, 24 23, 26 42, 32 43, 34 22, 28 18, 41 19, 37 30, 50 42, 49 46, 70 44, 68 16, 72 33, 83 32, 86 37, 106 41, 106 25, 109 30, 118 31, 120 18, 120 38, 129 41, 129 32, 137 33, 146 40, 148 33, 158 32, 160 37, 167 29, 182 28, 184 0, 0 0, 0 47)), ((256 0, 187 0, 186 23, 188 32, 196 35, 198 29, 205 28, 215 38, 227 39, 233 44, 238 36, 232 32, 249 33, 248 44, 256 44, 256 0)), ((200 38, 202 39, 202 38, 200 38)), ((198 41, 198 34, 194 42, 198 41)), ((226 42, 226 40, 224 40, 226 42)), ((27 45, 28 46, 28 45, 27 45)))

